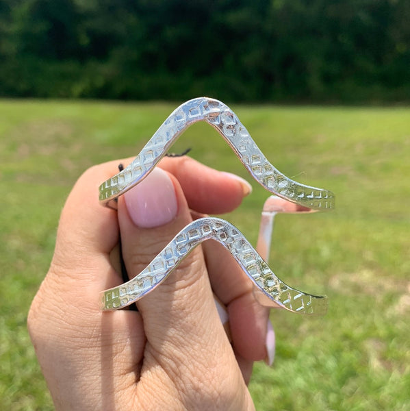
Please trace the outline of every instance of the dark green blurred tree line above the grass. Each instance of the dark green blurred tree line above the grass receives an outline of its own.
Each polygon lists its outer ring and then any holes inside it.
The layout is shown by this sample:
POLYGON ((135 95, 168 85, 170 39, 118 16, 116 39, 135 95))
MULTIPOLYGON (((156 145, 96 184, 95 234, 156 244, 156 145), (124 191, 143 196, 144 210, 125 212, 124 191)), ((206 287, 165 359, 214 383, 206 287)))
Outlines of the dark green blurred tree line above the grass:
POLYGON ((409 0, 0 0, 0 95, 410 101, 409 0))

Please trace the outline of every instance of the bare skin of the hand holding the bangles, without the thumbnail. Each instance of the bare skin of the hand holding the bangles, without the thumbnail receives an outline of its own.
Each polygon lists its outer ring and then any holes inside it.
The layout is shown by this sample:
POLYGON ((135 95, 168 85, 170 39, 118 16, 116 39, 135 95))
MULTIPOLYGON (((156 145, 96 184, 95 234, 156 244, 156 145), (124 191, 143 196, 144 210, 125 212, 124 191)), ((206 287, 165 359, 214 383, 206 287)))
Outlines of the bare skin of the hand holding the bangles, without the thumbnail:
POLYGON ((97 188, 117 160, 88 169, 62 211, 55 253, 28 316, 31 340, 56 410, 254 410, 246 384, 266 358, 268 310, 216 242, 205 242, 166 281, 138 301, 138 312, 101 312, 99 293, 122 282, 113 249, 120 232, 129 277, 203 213, 240 205, 240 182, 190 158, 165 158, 178 211, 161 227, 140 228, 120 197, 118 212, 97 188), (111 256, 111 257, 110 257, 111 256), (232 341, 216 312, 227 306, 232 341))

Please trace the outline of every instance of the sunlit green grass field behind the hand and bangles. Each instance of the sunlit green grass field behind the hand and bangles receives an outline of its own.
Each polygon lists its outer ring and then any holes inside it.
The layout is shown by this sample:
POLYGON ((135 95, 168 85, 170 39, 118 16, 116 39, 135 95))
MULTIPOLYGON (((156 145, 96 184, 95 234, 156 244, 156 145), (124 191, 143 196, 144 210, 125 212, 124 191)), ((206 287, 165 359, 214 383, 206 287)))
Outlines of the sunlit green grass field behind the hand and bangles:
MULTIPOLYGON (((3 410, 53 409, 26 318, 71 186, 92 164, 136 155, 175 107, 0 101, 3 410)), ((257 410, 410 410, 410 108, 231 108, 272 164, 337 201, 333 212, 277 217, 270 266, 330 306, 322 318, 272 312, 277 355, 272 369, 255 365, 257 410)), ((268 193, 209 125, 173 150, 186 147, 253 184, 228 218, 255 244, 268 193)))

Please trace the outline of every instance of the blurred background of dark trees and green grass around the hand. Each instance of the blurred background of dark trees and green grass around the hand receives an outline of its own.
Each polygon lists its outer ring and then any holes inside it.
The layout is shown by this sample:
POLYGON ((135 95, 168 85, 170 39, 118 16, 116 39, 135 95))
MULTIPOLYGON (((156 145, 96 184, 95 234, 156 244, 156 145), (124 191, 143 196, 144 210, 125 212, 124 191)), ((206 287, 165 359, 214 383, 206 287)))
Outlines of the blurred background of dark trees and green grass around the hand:
MULTIPOLYGON (((337 199, 277 217, 270 266, 330 306, 272 311, 257 410, 409 410, 409 22, 407 0, 1 1, 2 409, 53 409, 26 319, 75 180, 136 155, 177 105, 208 95, 280 171, 337 199)), ((255 244, 268 193, 208 125, 172 151, 186 147, 253 184, 227 218, 255 244)))

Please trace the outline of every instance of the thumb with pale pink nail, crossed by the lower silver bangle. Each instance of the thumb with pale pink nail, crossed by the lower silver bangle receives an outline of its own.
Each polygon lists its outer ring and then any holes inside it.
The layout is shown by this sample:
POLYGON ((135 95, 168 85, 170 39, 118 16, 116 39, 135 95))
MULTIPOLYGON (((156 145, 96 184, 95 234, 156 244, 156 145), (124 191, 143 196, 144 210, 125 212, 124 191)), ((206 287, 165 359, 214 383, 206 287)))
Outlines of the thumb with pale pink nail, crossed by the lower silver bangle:
MULTIPOLYGON (((155 169, 120 198, 118 220, 127 272, 135 277, 192 218, 177 179, 155 169)), ((151 375, 153 370, 160 373, 161 382, 171 375, 170 383, 179 397, 184 393, 188 397, 184 401, 185 406, 190 404, 188 409, 193 409, 191 400, 202 397, 201 401, 207 402, 221 391, 222 397, 233 401, 230 406, 237 401, 248 402, 238 363, 216 310, 201 247, 140 299, 138 310, 146 334, 141 381, 144 369, 151 375), (198 393, 201 381, 206 384, 201 384, 198 393), (187 390, 190 384, 196 386, 187 390), (234 398, 227 395, 231 391, 234 398), (243 397, 238 395, 241 391, 243 397)))

